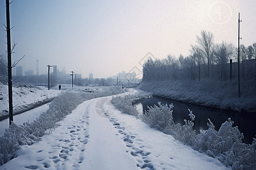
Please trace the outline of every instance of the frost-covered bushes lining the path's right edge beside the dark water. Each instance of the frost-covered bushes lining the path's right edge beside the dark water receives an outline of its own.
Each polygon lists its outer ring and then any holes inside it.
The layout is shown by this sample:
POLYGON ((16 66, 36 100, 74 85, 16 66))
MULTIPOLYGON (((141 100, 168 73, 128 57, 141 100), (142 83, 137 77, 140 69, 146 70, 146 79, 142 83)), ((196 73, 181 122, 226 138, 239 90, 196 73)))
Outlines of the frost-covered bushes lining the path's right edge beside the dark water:
MULTIPOLYGON (((138 96, 137 96, 138 97, 138 96)), ((131 105, 133 97, 119 97, 118 105, 131 105), (129 103, 125 99, 129 98, 129 103)), ((114 101, 114 100, 113 100, 114 101)), ((115 102, 114 102, 115 103, 115 102)), ((238 127, 233 127, 234 122, 229 118, 219 130, 209 120, 208 129, 196 134, 193 130, 195 115, 189 111, 190 120, 184 120, 185 124, 175 124, 172 118, 172 108, 170 105, 158 103, 154 107, 148 107, 148 111, 141 118, 152 128, 172 135, 175 139, 191 146, 195 150, 205 152, 207 155, 220 160, 227 167, 232 169, 256 169, 256 139, 251 145, 242 143, 243 134, 238 127)))

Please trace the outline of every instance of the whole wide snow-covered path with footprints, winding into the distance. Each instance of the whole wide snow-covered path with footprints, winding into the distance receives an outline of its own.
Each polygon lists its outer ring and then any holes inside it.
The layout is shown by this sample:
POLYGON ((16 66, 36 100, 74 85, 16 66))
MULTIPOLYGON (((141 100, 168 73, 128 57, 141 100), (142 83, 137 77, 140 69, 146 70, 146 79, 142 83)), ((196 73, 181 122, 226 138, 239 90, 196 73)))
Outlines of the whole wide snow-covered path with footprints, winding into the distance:
POLYGON ((80 104, 51 135, 21 146, 16 158, 0 169, 226 169, 218 160, 117 111, 111 99, 80 104))

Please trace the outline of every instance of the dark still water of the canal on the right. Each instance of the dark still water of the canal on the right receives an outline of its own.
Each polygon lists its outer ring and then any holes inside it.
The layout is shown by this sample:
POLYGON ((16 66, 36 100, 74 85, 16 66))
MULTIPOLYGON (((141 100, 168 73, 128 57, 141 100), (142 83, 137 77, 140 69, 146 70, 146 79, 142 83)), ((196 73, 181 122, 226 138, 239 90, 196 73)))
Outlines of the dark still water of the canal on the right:
POLYGON ((234 126, 238 126, 238 129, 245 136, 243 142, 251 143, 253 137, 256 135, 256 113, 237 113, 233 111, 223 111, 219 109, 200 107, 198 105, 180 103, 178 101, 172 101, 170 99, 162 97, 152 97, 151 99, 143 100, 142 104, 143 111, 148 110, 148 106, 158 105, 158 101, 162 104, 173 104, 174 105, 174 122, 184 125, 184 119, 190 120, 188 117, 190 109, 195 114, 194 128, 199 133, 200 129, 208 129, 207 122, 208 118, 213 122, 215 129, 218 130, 221 124, 224 123, 230 117, 234 121, 234 126))

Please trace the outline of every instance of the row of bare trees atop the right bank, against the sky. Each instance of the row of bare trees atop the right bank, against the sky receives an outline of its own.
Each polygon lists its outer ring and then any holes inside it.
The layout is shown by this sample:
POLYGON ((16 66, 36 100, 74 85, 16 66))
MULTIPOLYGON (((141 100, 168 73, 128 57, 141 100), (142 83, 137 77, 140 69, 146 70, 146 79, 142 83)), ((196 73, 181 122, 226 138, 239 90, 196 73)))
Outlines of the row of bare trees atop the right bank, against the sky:
MULTIPOLYGON (((167 58, 154 61, 148 58, 143 65, 143 80, 200 81, 201 78, 210 78, 224 81, 238 76, 238 48, 226 41, 214 44, 212 32, 202 30, 189 51, 190 54, 185 57, 169 54, 167 58)), ((240 45, 242 78, 255 78, 255 63, 256 42, 249 46, 240 45)))

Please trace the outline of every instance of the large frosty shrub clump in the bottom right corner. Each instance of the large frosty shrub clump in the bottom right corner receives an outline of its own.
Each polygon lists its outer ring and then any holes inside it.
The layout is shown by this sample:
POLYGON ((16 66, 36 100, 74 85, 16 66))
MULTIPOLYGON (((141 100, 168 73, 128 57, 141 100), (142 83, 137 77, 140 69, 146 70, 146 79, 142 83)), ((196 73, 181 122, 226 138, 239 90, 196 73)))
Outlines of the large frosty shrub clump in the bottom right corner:
POLYGON ((233 124, 234 122, 229 118, 217 131, 209 120, 207 123, 209 129, 201 131, 195 148, 233 169, 255 168, 255 139, 251 145, 242 143, 243 134, 237 126, 233 127, 233 124))

